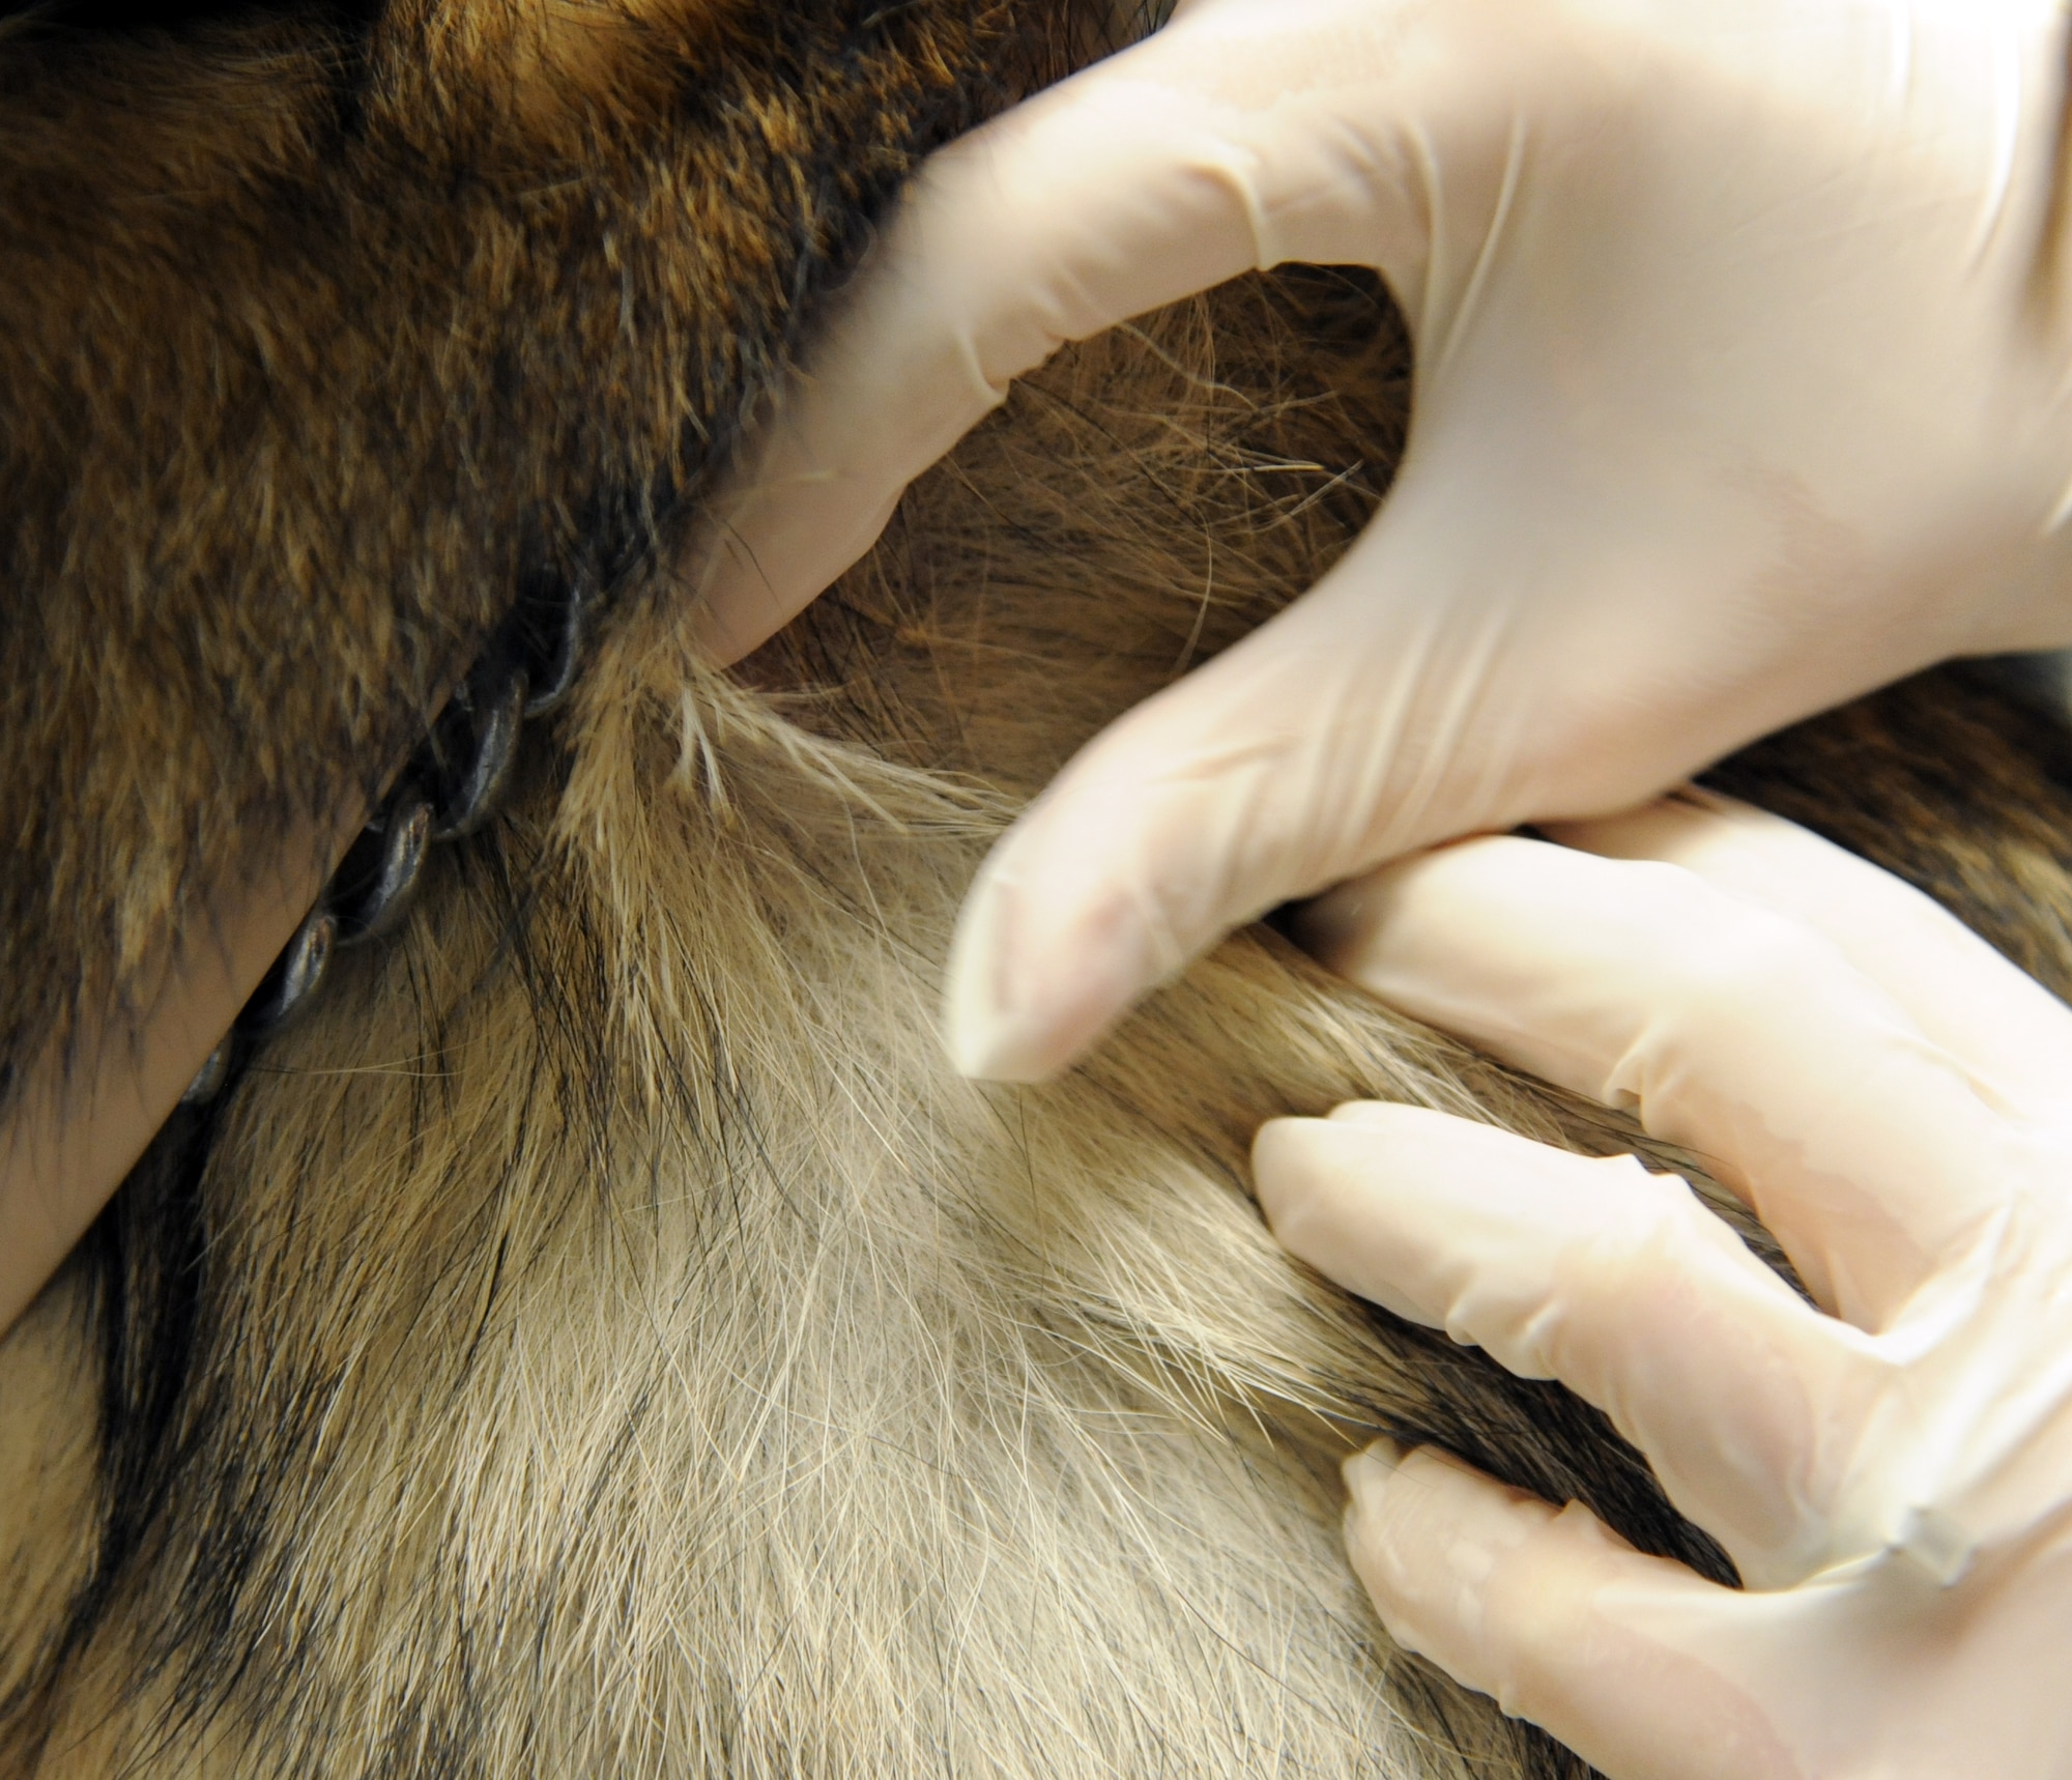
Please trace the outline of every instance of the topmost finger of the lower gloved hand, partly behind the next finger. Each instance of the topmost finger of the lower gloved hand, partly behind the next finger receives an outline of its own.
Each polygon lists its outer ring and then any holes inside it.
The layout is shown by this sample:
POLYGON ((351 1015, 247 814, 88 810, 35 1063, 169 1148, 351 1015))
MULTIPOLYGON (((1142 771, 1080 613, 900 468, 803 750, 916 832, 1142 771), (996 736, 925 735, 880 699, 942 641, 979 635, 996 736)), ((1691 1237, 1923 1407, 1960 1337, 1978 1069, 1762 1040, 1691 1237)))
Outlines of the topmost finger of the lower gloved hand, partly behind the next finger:
POLYGON ((1823 935, 1886 991, 1987 1100, 2039 1123, 2062 1119, 2072 1084, 2072 1013, 2033 976, 1921 891, 1819 835, 1687 787, 1631 814, 1548 825, 1564 848, 1666 860, 1823 935))

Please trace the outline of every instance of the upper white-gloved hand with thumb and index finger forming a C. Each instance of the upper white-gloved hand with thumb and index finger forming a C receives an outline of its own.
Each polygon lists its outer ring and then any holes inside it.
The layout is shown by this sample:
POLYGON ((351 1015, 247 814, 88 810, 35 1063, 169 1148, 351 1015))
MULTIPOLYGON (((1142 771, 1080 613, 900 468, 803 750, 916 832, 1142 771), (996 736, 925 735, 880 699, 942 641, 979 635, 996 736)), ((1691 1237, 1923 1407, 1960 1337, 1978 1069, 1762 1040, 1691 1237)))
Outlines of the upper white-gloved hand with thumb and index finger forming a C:
POLYGON ((1388 504, 988 862, 968 1073, 1229 926, 1602 814, 1952 653, 2072 640, 2055 0, 1196 0, 939 153, 709 586, 744 653, 1059 342, 1276 261, 1417 346, 1388 504))

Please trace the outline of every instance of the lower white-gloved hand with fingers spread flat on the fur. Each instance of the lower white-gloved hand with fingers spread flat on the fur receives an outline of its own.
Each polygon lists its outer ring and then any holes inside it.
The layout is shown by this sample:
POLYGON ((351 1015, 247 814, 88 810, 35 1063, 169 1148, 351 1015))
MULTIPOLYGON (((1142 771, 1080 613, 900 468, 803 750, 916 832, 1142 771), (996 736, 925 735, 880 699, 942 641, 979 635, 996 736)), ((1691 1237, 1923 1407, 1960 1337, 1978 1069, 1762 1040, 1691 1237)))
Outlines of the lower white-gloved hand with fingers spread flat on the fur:
POLYGON ((1382 1620, 1612 1780, 2072 1774, 2072 1009, 1774 816, 1564 833, 1614 858, 1461 841, 1310 939, 1705 1154, 1819 1310, 1631 1156, 1409 1107, 1266 1125, 1295 1254, 1595 1403, 1747 1583, 1380 1448, 1347 1538, 1382 1620))

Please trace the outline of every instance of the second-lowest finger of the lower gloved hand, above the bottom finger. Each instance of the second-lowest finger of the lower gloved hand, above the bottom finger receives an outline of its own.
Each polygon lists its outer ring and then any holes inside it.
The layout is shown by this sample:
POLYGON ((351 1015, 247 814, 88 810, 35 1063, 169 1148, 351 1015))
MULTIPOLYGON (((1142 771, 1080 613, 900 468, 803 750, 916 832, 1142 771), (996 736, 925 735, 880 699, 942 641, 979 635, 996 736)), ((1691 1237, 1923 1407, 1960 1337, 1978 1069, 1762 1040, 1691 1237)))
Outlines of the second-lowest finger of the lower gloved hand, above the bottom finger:
POLYGON ((1268 1123, 1254 1175, 1318 1272, 1604 1409, 1745 1579, 1832 1560, 1823 1459, 1877 1370, 1680 1179, 1376 1102, 1268 1123))

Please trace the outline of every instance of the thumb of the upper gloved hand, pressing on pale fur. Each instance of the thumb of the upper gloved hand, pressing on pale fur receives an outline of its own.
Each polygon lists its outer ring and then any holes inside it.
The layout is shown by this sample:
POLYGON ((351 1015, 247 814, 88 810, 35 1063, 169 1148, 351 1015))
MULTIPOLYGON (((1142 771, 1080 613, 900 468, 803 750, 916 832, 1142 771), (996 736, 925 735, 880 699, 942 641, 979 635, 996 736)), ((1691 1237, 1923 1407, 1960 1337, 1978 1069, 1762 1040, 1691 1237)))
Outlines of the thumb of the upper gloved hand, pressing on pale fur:
POLYGON ((1233 926, 1517 821, 1515 615, 1419 597, 1384 514, 1316 588, 1096 736, 982 866, 951 947, 966 1075, 1038 1082, 1233 926))

